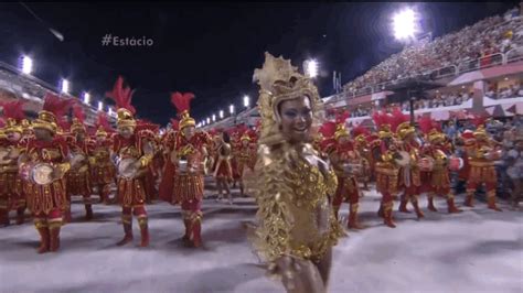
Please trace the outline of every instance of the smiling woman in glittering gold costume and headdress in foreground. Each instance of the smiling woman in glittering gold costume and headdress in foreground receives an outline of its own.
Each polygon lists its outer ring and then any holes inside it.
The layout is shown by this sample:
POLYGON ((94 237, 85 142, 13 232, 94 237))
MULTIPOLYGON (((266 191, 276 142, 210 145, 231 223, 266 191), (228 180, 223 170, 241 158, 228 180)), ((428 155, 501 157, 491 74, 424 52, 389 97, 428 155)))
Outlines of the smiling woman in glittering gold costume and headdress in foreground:
POLYGON ((258 223, 250 240, 287 292, 327 292, 331 248, 343 228, 331 208, 335 174, 310 143, 312 123, 320 122, 318 89, 290 61, 265 57, 254 75, 262 132, 253 176, 258 223))

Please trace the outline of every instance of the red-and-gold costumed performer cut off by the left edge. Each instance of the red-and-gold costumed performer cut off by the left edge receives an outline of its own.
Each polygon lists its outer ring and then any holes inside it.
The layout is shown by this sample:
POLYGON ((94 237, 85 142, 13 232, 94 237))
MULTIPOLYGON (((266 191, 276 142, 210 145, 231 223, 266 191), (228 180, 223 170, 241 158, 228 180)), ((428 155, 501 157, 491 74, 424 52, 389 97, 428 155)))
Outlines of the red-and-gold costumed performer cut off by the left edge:
POLYGON ((9 211, 17 210, 17 225, 23 224, 25 195, 19 176, 18 159, 23 150, 21 121, 24 119, 22 101, 2 102, 3 138, 0 139, 0 225, 9 226, 9 211))

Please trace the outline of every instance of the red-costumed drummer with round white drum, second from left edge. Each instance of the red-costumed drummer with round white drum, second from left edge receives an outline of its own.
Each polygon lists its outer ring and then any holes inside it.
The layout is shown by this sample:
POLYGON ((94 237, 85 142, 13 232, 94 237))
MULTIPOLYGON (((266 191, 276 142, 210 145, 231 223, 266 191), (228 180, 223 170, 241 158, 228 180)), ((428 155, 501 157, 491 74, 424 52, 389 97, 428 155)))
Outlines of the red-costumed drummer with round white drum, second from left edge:
POLYGON ((62 216, 67 205, 65 173, 71 167, 65 139, 56 133, 57 119, 68 110, 70 100, 53 94, 44 98, 43 109, 32 122, 34 139, 20 158, 25 176, 28 208, 41 241, 38 252, 57 251, 62 216))

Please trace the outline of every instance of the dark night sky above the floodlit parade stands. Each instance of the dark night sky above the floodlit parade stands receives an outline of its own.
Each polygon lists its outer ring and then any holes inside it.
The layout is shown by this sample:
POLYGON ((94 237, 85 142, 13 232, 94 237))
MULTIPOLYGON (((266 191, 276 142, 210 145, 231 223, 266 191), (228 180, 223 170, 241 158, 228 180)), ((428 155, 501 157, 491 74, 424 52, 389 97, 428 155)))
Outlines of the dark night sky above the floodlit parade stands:
MULTIPOLYGON (((319 61, 322 96, 333 94, 332 72, 342 85, 397 53, 393 13, 404 3, 26 3, 63 33, 60 42, 20 3, 0 3, 0 61, 34 58, 33 75, 73 94, 100 99, 122 75, 136 89, 138 115, 166 124, 174 117, 170 93, 192 91, 192 116, 204 119, 228 105, 255 98, 252 83, 264 52, 319 61), (152 46, 103 46, 105 34, 152 39, 152 46)), ((519 6, 503 3, 408 3, 421 13, 424 31, 439 36, 519 6)), ((106 100, 107 101, 107 100, 106 100)), ((254 102, 254 100, 253 100, 254 102)))

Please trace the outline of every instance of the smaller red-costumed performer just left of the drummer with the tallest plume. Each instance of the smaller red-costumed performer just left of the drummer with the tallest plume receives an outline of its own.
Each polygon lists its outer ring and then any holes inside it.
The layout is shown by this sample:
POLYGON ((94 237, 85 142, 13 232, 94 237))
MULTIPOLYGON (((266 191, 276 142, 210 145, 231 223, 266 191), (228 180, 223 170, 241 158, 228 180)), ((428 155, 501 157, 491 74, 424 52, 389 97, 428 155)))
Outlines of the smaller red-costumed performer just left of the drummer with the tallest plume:
POLYGON ((110 160, 113 140, 109 137, 113 129, 104 112, 98 113, 95 141, 90 156, 93 184, 97 187, 100 203, 109 204, 110 185, 115 182, 116 169, 110 160))

